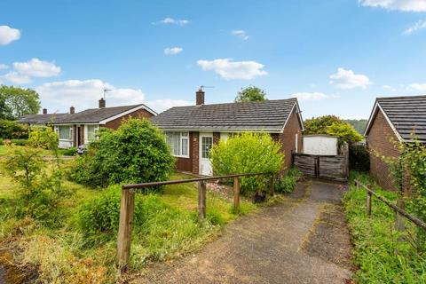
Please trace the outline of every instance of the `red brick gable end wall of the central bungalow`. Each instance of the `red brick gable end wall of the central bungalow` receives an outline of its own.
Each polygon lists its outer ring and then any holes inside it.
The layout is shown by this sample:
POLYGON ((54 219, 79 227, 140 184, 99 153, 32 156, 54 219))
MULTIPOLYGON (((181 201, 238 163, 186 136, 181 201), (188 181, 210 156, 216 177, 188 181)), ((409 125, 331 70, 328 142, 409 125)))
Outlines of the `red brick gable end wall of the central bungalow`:
MULTIPOLYGON (((279 139, 282 144, 281 150, 285 154, 284 167, 285 170, 291 168, 292 157, 291 154, 296 152, 296 134, 297 135, 297 151, 302 150, 302 125, 299 121, 296 109, 290 114, 286 127, 282 133, 279 134, 279 139)), ((272 138, 274 138, 272 136, 272 138)))

